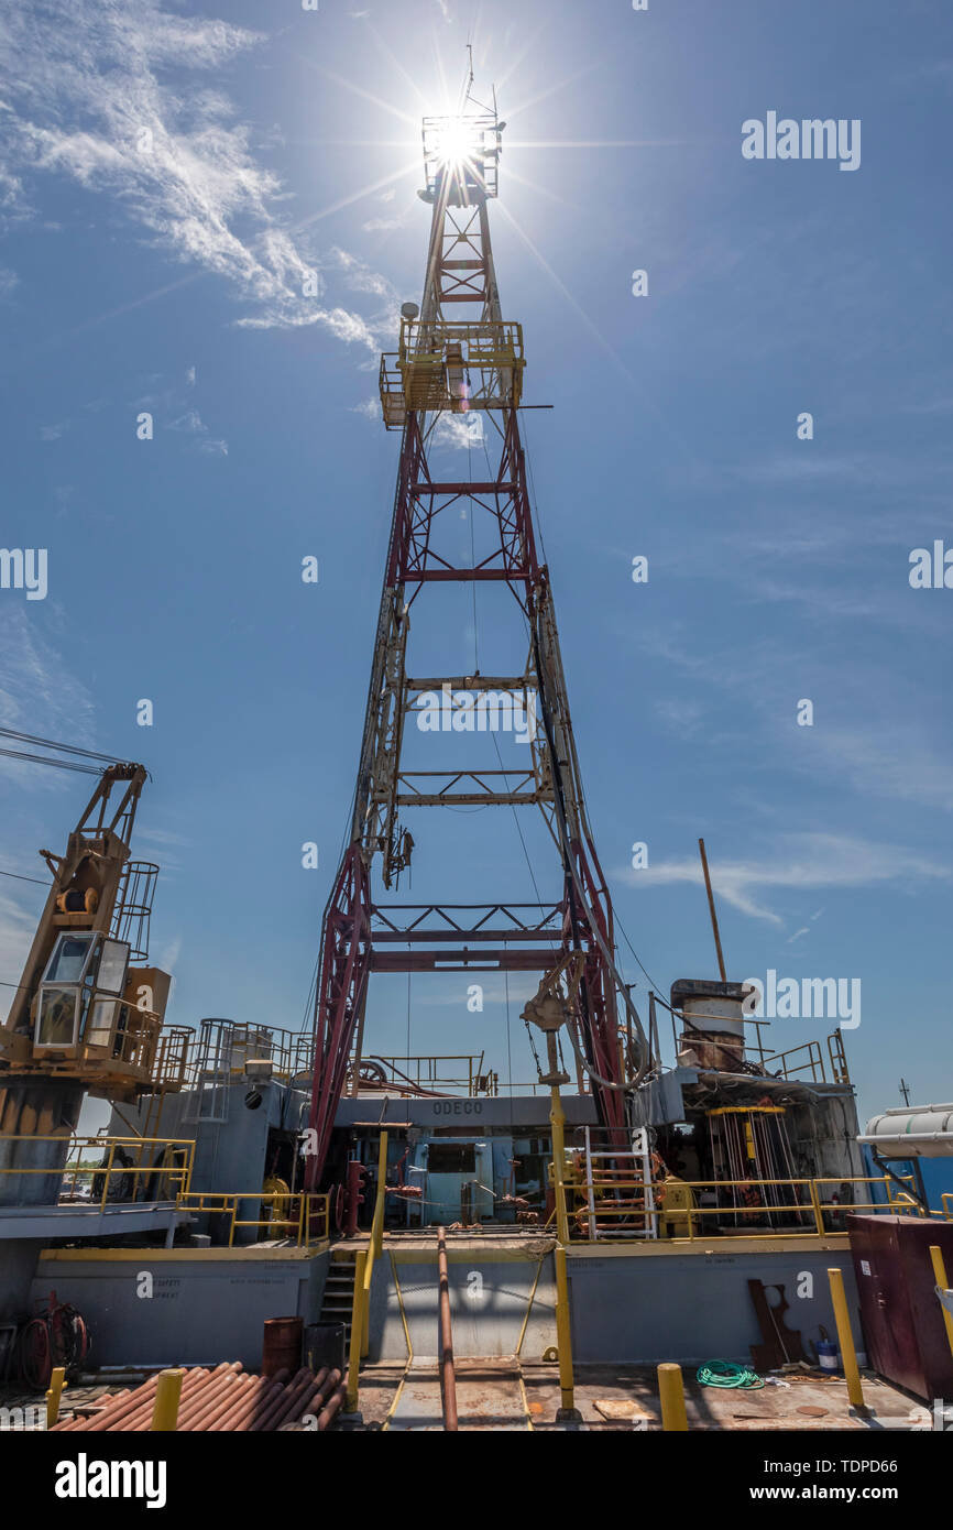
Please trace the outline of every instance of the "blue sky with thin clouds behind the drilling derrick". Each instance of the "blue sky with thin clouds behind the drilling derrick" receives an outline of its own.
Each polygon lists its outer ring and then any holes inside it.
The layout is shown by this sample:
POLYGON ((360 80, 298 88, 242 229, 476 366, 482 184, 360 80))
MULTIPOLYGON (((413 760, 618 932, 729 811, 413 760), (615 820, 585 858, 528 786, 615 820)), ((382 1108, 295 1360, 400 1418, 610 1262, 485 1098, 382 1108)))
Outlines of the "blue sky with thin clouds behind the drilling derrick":
MULTIPOLYGON (((861 1112, 899 1103, 901 1074, 947 1099, 953 592, 909 583, 913 548, 953 545, 941 0, 6 14, 2 540, 47 549, 49 594, 0 591, 0 718, 150 767, 136 851, 164 864, 170 1017, 295 1030, 349 817, 396 470, 378 352, 424 275, 418 119, 456 96, 468 38, 477 95, 496 81, 508 122, 494 254, 526 398, 554 405, 523 421, 618 920, 662 991, 711 975, 704 834, 730 975, 860 978, 861 1112), (860 168, 745 161, 742 122, 769 110, 860 119, 860 168), (814 727, 795 722, 802 698, 814 727)), ((483 655, 502 653, 486 601, 483 655)), ((421 636, 473 667, 470 592, 421 636)), ((0 866, 37 875, 86 785, 0 762, 0 866)), ((512 822, 491 812, 411 823, 402 895, 532 898, 512 822)), ((538 866, 543 897, 558 890, 538 866)), ((0 878, 8 981, 40 906, 40 887, 0 878)), ((516 1079, 531 1077, 525 994, 511 981, 516 1079)), ((502 999, 494 979, 468 1014, 463 979, 415 979, 411 1048, 485 1047, 506 1077, 502 999)), ((404 1050, 404 979, 372 988, 369 1027, 373 1050, 404 1050)))

